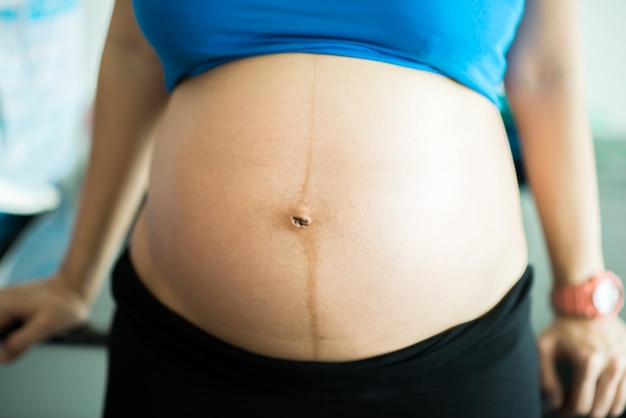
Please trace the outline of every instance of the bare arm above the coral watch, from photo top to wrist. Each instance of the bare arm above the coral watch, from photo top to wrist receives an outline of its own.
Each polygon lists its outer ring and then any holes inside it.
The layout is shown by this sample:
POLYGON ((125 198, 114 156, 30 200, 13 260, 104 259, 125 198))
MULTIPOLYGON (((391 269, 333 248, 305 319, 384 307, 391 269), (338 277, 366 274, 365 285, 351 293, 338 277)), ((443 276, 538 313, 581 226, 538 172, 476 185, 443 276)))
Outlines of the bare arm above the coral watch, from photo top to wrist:
POLYGON ((505 78, 559 285, 604 269, 576 3, 528 1, 505 78))

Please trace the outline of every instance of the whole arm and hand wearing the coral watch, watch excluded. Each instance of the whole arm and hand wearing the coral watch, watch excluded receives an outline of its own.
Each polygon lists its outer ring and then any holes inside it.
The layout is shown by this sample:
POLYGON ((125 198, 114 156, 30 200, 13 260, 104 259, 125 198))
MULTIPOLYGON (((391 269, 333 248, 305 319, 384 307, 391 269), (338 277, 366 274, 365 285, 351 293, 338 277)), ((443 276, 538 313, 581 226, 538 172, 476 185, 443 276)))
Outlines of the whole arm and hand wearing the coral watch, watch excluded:
MULTIPOLYGON (((604 269, 579 13, 571 0, 528 0, 505 77, 556 285, 579 284, 604 269)), ((564 400, 554 365, 566 359, 573 375, 563 408, 593 417, 620 414, 625 340, 619 318, 557 317, 538 340, 542 388, 553 404, 564 400)))

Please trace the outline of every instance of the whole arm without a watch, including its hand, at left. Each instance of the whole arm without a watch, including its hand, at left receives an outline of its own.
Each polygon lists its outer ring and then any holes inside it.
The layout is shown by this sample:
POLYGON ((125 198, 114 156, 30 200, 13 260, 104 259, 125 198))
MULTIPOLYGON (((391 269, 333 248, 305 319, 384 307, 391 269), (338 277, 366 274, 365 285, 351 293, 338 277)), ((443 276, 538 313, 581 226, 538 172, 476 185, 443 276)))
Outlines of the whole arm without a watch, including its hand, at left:
POLYGON ((0 361, 87 318, 147 184, 150 134, 167 95, 158 60, 118 0, 102 54, 89 167, 75 229, 60 271, 0 292, 0 328, 19 321, 0 361))

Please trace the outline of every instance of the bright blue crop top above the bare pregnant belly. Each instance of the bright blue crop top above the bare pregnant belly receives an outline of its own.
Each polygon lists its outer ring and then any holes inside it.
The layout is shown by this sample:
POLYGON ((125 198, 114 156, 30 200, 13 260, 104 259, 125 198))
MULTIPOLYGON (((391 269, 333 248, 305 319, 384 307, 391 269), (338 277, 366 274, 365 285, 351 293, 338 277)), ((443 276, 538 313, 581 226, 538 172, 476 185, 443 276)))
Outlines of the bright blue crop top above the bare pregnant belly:
POLYGON ((133 0, 172 90, 255 55, 309 52, 442 74, 498 103, 524 0, 133 0))

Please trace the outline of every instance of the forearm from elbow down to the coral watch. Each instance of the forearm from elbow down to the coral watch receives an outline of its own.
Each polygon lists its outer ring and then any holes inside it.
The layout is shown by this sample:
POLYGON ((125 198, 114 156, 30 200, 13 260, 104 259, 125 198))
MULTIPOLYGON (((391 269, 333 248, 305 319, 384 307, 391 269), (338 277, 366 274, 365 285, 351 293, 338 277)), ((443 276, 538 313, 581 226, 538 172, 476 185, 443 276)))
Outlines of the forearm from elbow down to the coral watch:
POLYGON ((583 78, 572 69, 535 88, 507 88, 557 285, 583 282, 604 268, 583 78))

